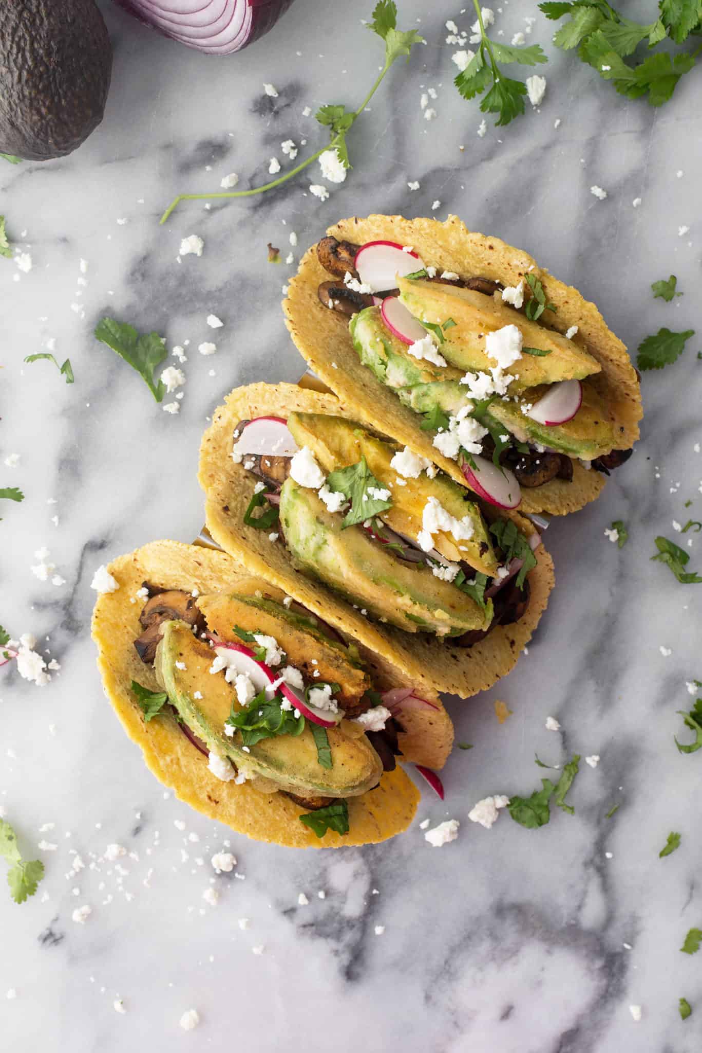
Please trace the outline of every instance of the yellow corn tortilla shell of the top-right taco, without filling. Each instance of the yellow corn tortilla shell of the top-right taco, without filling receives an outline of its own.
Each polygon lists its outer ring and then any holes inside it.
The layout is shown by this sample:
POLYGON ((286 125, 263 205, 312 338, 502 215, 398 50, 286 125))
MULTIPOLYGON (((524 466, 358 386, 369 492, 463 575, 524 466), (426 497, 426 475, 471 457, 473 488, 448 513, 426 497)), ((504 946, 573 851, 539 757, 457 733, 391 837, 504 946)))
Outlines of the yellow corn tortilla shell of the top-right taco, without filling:
MULTIPOLYGON (((591 377, 590 382, 607 400, 611 418, 619 429, 617 449, 626 450, 639 438, 641 393, 625 345, 607 327, 594 303, 549 275, 527 253, 513 249, 499 238, 468 231, 457 216, 449 216, 443 223, 435 219, 403 219, 402 216, 353 217, 330 226, 327 234, 359 244, 387 239, 410 245, 426 264, 436 266, 439 274, 453 271, 461 275, 479 275, 504 285, 516 285, 525 274, 534 274, 541 281, 547 301, 557 307, 555 314, 542 315, 540 322, 559 333, 577 325, 576 343, 585 347, 602 365, 602 373, 591 377)), ((402 405, 392 389, 361 365, 348 333, 347 319, 323 307, 317 296, 319 284, 328 278, 314 245, 303 256, 283 301, 286 325, 298 351, 357 419, 382 426, 398 442, 428 457, 457 482, 466 485, 456 461, 443 457, 433 445, 432 436, 421 430, 418 414, 402 405)), ((543 486, 523 486, 519 511, 564 515, 594 500, 604 486, 605 476, 583 468, 578 460, 574 460, 573 465, 571 482, 553 479, 543 486)))

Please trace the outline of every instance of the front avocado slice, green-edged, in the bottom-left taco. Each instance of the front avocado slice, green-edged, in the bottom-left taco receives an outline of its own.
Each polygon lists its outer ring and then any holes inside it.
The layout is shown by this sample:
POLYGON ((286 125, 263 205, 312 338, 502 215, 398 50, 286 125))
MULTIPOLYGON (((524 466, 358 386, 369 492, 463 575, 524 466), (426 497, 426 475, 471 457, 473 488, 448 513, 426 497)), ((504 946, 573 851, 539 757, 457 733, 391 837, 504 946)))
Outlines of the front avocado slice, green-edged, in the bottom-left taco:
POLYGON ((214 658, 213 649, 198 640, 185 622, 165 623, 156 652, 157 678, 187 727, 210 752, 228 757, 237 768, 273 780, 281 790, 304 791, 304 795, 356 797, 377 786, 383 770, 380 757, 365 735, 353 737, 344 732, 343 724, 327 729, 333 759, 328 770, 317 759, 317 747, 307 726, 301 735, 264 738, 245 752, 240 732, 232 738, 224 734, 224 721, 236 695, 223 673, 209 673, 214 658), (185 669, 178 669, 176 662, 185 669), (195 698, 196 691, 202 693, 201 699, 195 698))

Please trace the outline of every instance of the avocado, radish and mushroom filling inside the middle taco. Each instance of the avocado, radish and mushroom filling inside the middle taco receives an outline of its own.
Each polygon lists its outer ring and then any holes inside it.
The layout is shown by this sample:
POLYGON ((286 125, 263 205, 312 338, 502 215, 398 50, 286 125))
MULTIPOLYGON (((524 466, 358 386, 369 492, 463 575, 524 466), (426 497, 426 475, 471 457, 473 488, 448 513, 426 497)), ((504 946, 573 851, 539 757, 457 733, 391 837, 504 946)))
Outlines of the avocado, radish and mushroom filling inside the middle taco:
POLYGON ((258 480, 245 524, 362 615, 472 647, 526 612, 539 535, 428 459, 322 413, 242 420, 233 439, 258 480))

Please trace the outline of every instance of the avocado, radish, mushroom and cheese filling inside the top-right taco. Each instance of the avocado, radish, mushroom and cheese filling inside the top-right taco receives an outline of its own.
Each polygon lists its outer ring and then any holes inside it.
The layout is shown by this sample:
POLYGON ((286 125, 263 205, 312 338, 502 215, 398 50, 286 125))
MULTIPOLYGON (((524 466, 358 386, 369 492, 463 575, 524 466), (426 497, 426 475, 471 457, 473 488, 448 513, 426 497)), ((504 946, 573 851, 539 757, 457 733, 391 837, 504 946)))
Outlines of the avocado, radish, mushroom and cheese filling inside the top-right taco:
POLYGON ((317 255, 334 277, 319 299, 349 318, 361 363, 484 500, 517 508, 522 486, 570 482, 574 460, 608 475, 631 455, 616 449, 601 364, 577 325, 548 327, 557 309, 534 275, 505 287, 438 273, 389 241, 325 237, 317 255))

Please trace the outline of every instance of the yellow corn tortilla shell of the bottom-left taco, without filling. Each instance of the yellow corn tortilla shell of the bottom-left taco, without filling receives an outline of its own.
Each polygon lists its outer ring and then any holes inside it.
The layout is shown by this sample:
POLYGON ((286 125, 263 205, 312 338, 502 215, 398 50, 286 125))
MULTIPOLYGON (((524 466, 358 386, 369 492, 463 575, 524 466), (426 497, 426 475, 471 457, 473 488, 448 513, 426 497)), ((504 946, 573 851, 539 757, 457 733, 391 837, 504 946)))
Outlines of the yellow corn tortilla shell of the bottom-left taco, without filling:
MULTIPOLYGON (((216 778, 175 720, 159 718, 145 723, 131 691, 132 680, 152 691, 160 689, 154 670, 139 659, 134 649, 134 640, 141 632, 141 603, 132 603, 131 599, 142 581, 169 589, 197 588, 205 593, 236 589, 238 582, 250 576, 224 553, 179 541, 153 541, 113 560, 108 571, 119 589, 98 596, 93 613, 93 639, 98 647, 104 692, 151 771, 180 800, 237 833, 288 848, 376 843, 407 829, 420 795, 401 768, 385 772, 375 790, 348 799, 347 834, 328 831, 320 839, 300 822, 303 810, 284 794, 264 794, 246 782, 236 786, 216 778)), ((261 582, 261 589, 272 598, 282 599, 266 582, 261 582)))

